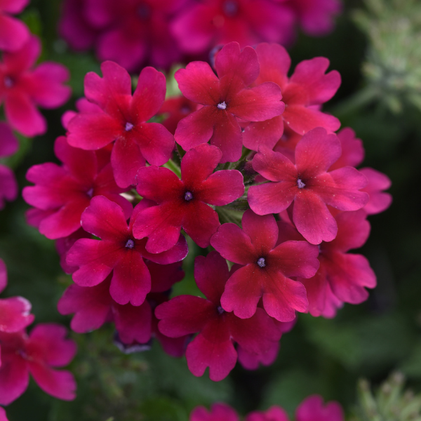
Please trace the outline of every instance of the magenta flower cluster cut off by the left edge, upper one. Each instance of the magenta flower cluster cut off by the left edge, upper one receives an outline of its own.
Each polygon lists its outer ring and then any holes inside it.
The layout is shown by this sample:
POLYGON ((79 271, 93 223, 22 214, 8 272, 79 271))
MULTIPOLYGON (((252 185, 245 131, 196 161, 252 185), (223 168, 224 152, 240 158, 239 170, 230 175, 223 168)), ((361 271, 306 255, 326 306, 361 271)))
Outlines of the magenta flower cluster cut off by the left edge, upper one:
MULTIPOLYGON (((35 66, 41 54, 41 41, 13 17, 28 2, 0 1, 0 107, 4 106, 6 116, 6 122, 0 121, 0 159, 18 150, 12 129, 27 137, 46 133, 46 119, 37 107, 59 107, 71 93, 63 85, 69 79, 64 66, 55 62, 35 66)), ((13 171, 0 165, 0 209, 4 208, 5 200, 13 201, 17 196, 13 171)))

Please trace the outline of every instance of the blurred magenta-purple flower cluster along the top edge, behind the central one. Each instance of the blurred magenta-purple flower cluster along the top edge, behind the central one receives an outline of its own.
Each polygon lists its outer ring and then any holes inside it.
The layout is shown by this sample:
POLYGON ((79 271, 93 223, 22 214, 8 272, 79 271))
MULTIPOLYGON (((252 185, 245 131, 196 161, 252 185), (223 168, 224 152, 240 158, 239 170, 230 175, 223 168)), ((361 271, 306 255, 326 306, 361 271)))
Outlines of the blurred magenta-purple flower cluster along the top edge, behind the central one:
POLYGON ((340 11, 338 0, 66 0, 59 29, 72 48, 95 48, 100 60, 134 71, 168 68, 231 41, 290 44, 298 25, 327 34, 340 11))

